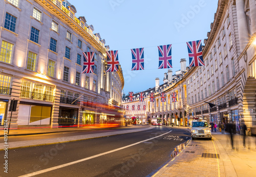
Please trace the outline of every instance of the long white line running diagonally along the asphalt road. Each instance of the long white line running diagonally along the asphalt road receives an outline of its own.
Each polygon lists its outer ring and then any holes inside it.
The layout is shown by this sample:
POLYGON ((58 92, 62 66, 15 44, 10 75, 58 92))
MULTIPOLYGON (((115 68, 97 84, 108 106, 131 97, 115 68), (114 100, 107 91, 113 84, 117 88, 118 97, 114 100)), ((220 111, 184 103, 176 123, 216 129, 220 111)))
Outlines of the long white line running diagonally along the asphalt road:
POLYGON ((168 133, 171 132, 171 131, 172 131, 172 130, 166 132, 165 134, 162 134, 162 135, 159 135, 159 136, 156 136, 156 137, 147 139, 147 140, 139 141, 139 142, 134 143, 134 144, 130 144, 130 145, 127 145, 127 146, 123 146, 123 147, 120 147, 120 148, 117 148, 117 149, 114 149, 114 150, 110 150, 110 151, 107 151, 107 152, 99 153, 99 154, 97 154, 97 155, 95 155, 95 156, 91 156, 91 157, 84 158, 84 159, 80 159, 80 160, 77 160, 77 161, 74 161, 74 162, 70 162, 70 163, 58 165, 58 166, 55 166, 55 167, 47 168, 47 169, 44 169, 44 170, 36 171, 36 172, 33 172, 33 173, 25 174, 25 175, 22 175, 22 176, 19 176, 19 177, 34 176, 34 175, 37 175, 37 174, 46 173, 46 172, 49 172, 49 171, 52 171, 52 170, 56 170, 56 169, 59 169, 59 168, 62 168, 62 167, 67 167, 67 166, 69 166, 69 165, 74 165, 74 164, 77 164, 77 163, 80 163, 80 162, 83 162, 83 161, 87 161, 87 160, 94 159, 94 158, 97 158, 97 157, 100 157, 100 156, 104 156, 105 154, 112 153, 112 152, 115 152, 115 151, 118 151, 118 150, 122 150, 122 149, 125 149, 125 148, 127 148, 127 147, 131 147, 131 146, 134 146, 134 145, 143 143, 143 142, 145 142, 145 141, 153 140, 153 139, 155 139, 155 138, 164 136, 164 135, 168 134, 168 133))

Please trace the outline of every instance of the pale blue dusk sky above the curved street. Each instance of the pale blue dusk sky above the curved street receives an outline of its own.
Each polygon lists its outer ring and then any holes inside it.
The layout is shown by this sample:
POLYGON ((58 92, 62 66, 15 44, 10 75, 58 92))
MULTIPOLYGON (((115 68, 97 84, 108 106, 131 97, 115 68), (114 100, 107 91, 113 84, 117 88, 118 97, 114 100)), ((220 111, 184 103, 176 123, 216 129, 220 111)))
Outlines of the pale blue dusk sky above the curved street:
POLYGON ((173 74, 186 58, 187 41, 203 40, 214 21, 218 0, 69 0, 76 17, 84 16, 94 33, 100 33, 110 50, 118 50, 125 95, 163 83, 168 69, 158 69, 157 46, 172 44, 173 74), (144 48, 144 70, 131 71, 131 49, 144 48))

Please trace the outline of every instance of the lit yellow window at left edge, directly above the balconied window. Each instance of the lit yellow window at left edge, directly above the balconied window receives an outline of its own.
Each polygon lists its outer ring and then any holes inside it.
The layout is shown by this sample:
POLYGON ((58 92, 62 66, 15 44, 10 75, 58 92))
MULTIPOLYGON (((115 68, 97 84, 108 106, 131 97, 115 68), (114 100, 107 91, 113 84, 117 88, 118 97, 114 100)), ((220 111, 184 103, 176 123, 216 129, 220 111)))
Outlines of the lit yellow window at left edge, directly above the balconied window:
POLYGON ((13 48, 12 43, 6 42, 4 40, 2 41, 0 61, 11 63, 12 48, 13 48))

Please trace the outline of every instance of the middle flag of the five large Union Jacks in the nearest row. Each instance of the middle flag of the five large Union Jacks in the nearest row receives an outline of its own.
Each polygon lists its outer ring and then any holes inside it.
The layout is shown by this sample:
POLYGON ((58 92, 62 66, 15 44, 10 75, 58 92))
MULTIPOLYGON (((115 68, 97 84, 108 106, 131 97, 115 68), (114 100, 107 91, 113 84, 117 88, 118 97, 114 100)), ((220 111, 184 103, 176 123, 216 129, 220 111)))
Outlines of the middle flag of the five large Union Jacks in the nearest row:
POLYGON ((144 48, 131 49, 132 51, 132 71, 144 70, 144 48))

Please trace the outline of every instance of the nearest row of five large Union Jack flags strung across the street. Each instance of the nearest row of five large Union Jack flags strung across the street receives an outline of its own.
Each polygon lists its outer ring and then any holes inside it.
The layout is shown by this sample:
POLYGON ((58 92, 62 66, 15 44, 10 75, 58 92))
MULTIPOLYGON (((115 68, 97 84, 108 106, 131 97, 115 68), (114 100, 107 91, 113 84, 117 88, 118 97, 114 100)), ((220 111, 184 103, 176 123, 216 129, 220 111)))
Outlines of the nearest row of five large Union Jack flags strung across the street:
MULTIPOLYGON (((190 41, 187 43, 189 67, 204 66, 202 41, 190 41)), ((144 70, 144 48, 131 49, 132 51, 132 71, 144 70)), ((159 66, 158 69, 173 68, 172 65, 172 45, 158 46, 159 66)), ((107 51, 108 68, 106 72, 118 71, 118 51, 107 51)), ((94 52, 83 52, 82 73, 94 72, 94 52)))

